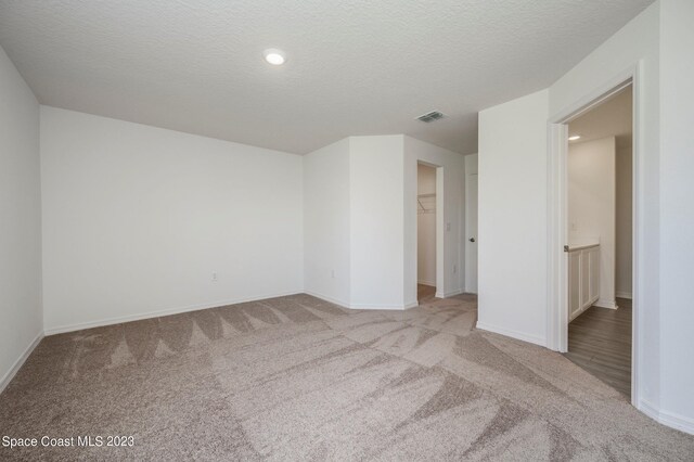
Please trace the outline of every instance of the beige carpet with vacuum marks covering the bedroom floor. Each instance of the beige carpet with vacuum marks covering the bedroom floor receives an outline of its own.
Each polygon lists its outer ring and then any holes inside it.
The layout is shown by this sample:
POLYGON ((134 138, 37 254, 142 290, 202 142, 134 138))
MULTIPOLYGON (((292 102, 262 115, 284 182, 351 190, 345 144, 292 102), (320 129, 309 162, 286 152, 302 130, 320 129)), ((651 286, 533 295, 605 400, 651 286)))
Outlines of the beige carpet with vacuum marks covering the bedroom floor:
POLYGON ((350 311, 296 295, 47 337, 0 395, 0 437, 134 446, 0 460, 694 460, 694 437, 475 320, 466 296, 350 311))

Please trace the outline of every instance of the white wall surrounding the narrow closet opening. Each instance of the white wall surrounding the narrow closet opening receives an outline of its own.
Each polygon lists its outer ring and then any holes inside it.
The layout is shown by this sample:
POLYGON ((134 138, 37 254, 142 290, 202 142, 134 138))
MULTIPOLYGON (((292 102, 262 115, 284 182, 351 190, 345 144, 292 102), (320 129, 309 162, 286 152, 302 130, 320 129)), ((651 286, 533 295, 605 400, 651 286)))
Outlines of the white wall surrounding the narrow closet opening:
POLYGON ((437 166, 436 296, 463 292, 464 156, 411 137, 402 137, 404 170, 404 300, 416 305, 416 168, 419 162, 437 166))

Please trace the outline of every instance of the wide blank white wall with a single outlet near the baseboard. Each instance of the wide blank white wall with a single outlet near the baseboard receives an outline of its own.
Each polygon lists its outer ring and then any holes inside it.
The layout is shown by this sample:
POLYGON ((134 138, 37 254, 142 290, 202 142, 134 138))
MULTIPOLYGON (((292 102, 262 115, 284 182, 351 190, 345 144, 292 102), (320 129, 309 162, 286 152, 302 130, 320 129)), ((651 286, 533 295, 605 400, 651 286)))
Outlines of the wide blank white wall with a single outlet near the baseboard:
POLYGON ((42 106, 41 175, 47 332, 304 288, 299 156, 42 106))

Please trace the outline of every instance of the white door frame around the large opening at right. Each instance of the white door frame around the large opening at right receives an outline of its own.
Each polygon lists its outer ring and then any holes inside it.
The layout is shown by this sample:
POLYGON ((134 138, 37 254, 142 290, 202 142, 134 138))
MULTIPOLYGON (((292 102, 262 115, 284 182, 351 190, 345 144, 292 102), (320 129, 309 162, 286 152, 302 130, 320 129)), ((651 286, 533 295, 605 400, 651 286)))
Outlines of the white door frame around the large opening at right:
POLYGON ((642 246, 640 228, 644 200, 641 196, 642 142, 640 120, 643 118, 641 104, 642 63, 615 75, 601 87, 569 104, 548 120, 548 319, 547 346, 550 349, 566 352, 568 348, 568 262, 564 245, 568 243, 568 194, 567 194, 567 155, 568 123, 604 102, 607 98, 631 85, 632 110, 632 326, 631 326, 631 402, 639 402, 640 339, 643 331, 640 323, 641 306, 639 300, 644 286, 640 280, 644 261, 638 252, 642 246))

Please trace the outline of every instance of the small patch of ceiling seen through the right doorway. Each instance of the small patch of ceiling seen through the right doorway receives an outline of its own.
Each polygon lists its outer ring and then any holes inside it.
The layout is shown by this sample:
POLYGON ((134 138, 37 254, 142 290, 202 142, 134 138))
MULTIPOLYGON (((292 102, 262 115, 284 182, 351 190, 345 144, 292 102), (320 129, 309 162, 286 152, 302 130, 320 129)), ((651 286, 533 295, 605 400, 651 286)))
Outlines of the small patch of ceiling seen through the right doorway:
POLYGON ((568 125, 569 136, 578 134, 580 140, 575 143, 600 140, 601 138, 615 137, 617 147, 631 145, 633 131, 632 87, 629 86, 593 107, 586 114, 574 119, 568 125))

